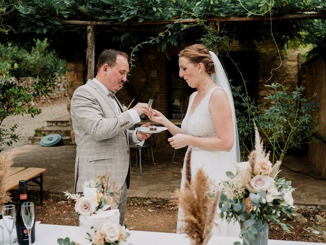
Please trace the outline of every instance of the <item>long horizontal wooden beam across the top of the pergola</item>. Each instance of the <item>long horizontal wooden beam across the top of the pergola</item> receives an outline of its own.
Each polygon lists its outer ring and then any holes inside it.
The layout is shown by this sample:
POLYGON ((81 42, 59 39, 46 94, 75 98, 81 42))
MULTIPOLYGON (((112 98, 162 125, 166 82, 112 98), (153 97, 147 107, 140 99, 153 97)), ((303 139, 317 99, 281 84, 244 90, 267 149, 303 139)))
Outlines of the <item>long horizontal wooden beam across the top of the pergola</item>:
MULTIPOLYGON (((309 19, 326 19, 326 14, 286 14, 282 16, 271 16, 272 21, 286 21, 286 20, 309 20, 309 19)), ((259 17, 227 17, 227 18, 209 18, 204 19, 206 21, 235 23, 235 22, 255 22, 255 21, 270 21, 269 16, 259 17)), ((178 21, 179 23, 195 23, 197 19, 168 19, 157 21, 144 21, 144 22, 130 22, 128 26, 147 26, 147 25, 159 25, 170 24, 178 21)), ((65 26, 122 26, 122 23, 115 22, 107 24, 105 21, 87 21, 87 20, 62 20, 61 23, 65 26)))

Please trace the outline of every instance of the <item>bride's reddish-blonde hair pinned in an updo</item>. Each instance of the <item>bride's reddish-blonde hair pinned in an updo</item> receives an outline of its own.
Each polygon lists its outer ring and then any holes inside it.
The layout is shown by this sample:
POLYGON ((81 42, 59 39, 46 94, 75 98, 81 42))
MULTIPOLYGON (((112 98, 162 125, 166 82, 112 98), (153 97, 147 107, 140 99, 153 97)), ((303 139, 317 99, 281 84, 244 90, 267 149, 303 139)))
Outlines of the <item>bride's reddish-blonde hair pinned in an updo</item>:
POLYGON ((194 44, 188 46, 180 51, 178 57, 184 57, 188 59, 193 64, 203 63, 205 70, 208 75, 212 75, 215 73, 214 63, 210 58, 209 51, 207 47, 201 44, 194 44))

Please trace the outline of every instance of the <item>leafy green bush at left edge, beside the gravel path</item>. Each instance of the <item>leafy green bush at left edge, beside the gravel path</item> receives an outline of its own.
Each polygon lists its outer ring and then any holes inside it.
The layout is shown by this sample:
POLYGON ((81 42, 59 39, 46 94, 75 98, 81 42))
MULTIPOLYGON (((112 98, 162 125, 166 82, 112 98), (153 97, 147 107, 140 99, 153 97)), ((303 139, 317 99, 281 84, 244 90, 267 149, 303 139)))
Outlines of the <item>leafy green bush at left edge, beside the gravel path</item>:
MULTIPOLYGON (((39 44, 42 44, 41 42, 39 44)), ((43 43, 44 44, 44 43, 43 43)), ((39 45, 42 47, 42 45, 39 45)), ((42 48, 41 48, 42 50, 42 48)), ((58 59, 49 59, 39 51, 28 52, 9 45, 8 48, 0 46, 0 52, 4 55, 0 59, 0 152, 2 145, 12 145, 18 141, 15 132, 17 125, 10 129, 4 128, 3 121, 11 115, 40 114, 41 110, 33 105, 33 100, 40 96, 47 96, 55 87, 58 59), (15 61, 22 64, 22 68, 15 61), (43 62, 43 63, 41 63, 43 62), (14 64, 14 65, 12 65, 14 64), (29 65, 30 64, 30 65, 29 65), (21 76, 34 76, 33 84, 24 87, 19 84, 21 76), (15 77, 16 78, 15 78, 15 77)), ((62 64, 61 64, 62 65, 62 64)))

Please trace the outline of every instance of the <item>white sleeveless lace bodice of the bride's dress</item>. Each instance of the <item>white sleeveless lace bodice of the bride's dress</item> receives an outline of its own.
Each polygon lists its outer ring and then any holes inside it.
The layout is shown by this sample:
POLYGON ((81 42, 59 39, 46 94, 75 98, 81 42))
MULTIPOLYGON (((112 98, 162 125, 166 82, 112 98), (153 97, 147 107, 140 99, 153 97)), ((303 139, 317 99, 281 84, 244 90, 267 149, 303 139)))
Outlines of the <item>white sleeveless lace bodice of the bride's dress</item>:
MULTIPOLYGON (((215 88, 210 89, 207 94, 203 97, 202 101, 195 108, 192 115, 191 107, 193 106, 194 98, 197 91, 194 92, 189 100, 188 109, 184 119, 182 120, 181 129, 187 135, 192 135, 196 137, 216 137, 216 131, 212 121, 212 116, 208 111, 208 104, 211 93, 215 88)), ((194 149, 199 150, 199 149, 194 149)))

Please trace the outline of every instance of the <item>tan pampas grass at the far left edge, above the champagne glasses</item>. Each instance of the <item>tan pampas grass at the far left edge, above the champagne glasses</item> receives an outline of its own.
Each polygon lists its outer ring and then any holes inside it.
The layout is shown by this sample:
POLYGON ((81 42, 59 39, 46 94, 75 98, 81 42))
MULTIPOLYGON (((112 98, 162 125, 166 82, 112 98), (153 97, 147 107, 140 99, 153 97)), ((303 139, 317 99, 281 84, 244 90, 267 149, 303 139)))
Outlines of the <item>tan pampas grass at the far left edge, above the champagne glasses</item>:
POLYGON ((13 163, 14 154, 0 155, 0 206, 11 201, 6 191, 6 183, 9 179, 9 169, 13 163))

